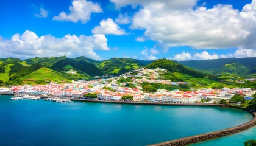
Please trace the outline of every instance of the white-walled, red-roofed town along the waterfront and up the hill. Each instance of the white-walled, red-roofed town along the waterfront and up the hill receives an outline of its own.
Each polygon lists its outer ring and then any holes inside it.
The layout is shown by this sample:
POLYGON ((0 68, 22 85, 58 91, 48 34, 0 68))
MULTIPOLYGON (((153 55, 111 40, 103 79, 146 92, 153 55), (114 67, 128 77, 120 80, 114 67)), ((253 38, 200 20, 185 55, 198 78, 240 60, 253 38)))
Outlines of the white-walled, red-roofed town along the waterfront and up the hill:
POLYGON ((41 96, 57 96, 70 98, 86 98, 87 94, 94 94, 97 100, 126 100, 133 102, 167 102, 167 103, 217 103, 221 99, 227 102, 235 94, 241 94, 250 98, 254 93, 251 88, 222 88, 222 89, 193 89, 190 91, 180 91, 175 89, 157 89, 155 92, 144 92, 140 83, 162 83, 164 85, 191 85, 187 82, 171 82, 165 80, 160 74, 166 72, 165 69, 135 69, 119 77, 96 78, 95 80, 79 80, 72 83, 48 85, 22 85, 1 87, 0 92, 12 94, 35 94, 41 96), (129 82, 126 81, 129 78, 129 82), (129 86, 126 86, 129 85, 129 86), (126 98, 132 97, 132 98, 126 98))

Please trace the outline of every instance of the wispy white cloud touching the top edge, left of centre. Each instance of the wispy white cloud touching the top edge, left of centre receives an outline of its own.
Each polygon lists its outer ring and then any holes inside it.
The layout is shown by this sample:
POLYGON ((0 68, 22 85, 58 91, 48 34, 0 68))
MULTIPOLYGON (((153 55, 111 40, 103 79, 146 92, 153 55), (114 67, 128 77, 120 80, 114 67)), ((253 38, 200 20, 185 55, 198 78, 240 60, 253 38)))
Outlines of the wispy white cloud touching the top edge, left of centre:
POLYGON ((91 1, 87 0, 74 0, 72 5, 69 6, 69 13, 60 12, 59 16, 54 16, 53 20, 57 21, 71 21, 77 23, 81 21, 82 24, 87 23, 91 19, 91 13, 101 13, 101 7, 91 1))

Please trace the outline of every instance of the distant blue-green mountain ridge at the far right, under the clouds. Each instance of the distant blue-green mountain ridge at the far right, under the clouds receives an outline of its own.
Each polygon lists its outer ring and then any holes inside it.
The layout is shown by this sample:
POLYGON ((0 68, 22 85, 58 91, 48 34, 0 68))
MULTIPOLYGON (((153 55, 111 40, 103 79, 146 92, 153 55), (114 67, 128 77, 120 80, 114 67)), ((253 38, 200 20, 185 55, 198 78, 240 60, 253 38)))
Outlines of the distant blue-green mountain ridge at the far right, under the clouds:
POLYGON ((242 77, 255 73, 256 57, 221 58, 215 60, 176 61, 190 68, 210 70, 213 74, 237 74, 242 77))

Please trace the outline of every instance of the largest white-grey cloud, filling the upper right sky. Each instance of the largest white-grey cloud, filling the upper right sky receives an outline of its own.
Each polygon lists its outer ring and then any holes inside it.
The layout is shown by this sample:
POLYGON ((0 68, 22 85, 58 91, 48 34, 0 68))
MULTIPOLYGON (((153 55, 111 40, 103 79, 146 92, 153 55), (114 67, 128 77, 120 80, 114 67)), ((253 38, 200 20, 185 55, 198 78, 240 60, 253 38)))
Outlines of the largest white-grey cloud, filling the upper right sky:
POLYGON ((207 9, 204 5, 197 6, 196 0, 111 1, 117 7, 140 5, 130 28, 144 30, 147 39, 166 48, 256 49, 256 0, 241 11, 221 4, 207 9))

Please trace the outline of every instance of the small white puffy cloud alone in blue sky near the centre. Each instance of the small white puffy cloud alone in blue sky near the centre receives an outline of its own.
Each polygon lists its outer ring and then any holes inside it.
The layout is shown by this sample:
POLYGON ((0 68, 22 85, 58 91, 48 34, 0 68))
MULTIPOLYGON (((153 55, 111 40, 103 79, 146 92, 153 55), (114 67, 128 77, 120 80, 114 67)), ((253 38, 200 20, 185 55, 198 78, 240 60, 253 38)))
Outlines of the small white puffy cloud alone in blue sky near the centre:
POLYGON ((121 29, 111 18, 104 19, 99 23, 99 26, 91 30, 93 34, 105 35, 124 35, 126 32, 121 29))

